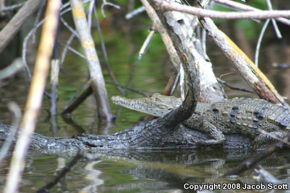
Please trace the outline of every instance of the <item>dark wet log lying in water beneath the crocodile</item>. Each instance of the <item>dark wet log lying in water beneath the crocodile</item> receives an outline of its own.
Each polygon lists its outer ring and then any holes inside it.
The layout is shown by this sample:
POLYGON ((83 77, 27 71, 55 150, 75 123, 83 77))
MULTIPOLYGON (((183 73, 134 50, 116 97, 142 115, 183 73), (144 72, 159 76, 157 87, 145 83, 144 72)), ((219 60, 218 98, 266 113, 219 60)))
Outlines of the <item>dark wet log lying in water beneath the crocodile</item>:
MULTIPOLYGON (((109 149, 136 148, 196 148, 198 140, 209 136, 198 130, 186 128, 183 124, 175 127, 160 127, 162 117, 140 122, 125 130, 105 135, 76 134, 71 137, 48 137, 34 133, 29 150, 43 153, 58 153, 64 150, 84 149, 91 152, 109 149)), ((0 143, 10 134, 10 126, 0 123, 0 143)), ((241 134, 225 134, 223 148, 250 148, 252 141, 241 134)))

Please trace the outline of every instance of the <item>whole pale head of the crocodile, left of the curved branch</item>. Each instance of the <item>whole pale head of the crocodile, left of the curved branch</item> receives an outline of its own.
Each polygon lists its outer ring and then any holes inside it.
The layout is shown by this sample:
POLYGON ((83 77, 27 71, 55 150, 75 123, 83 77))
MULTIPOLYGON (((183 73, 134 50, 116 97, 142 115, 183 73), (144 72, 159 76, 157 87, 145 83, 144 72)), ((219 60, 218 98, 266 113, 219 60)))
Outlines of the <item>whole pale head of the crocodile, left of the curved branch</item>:
POLYGON ((163 116, 182 103, 181 98, 164 96, 159 93, 142 98, 129 99, 121 96, 112 96, 111 99, 114 104, 155 116, 163 116))

